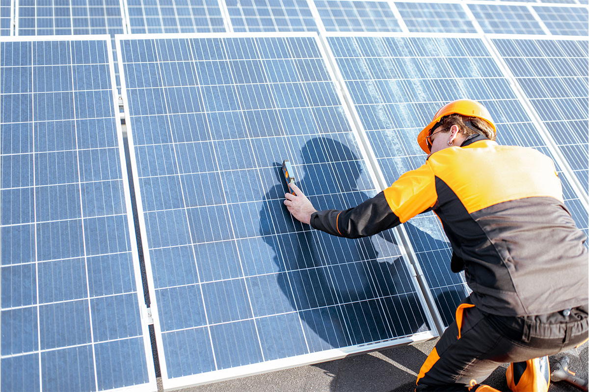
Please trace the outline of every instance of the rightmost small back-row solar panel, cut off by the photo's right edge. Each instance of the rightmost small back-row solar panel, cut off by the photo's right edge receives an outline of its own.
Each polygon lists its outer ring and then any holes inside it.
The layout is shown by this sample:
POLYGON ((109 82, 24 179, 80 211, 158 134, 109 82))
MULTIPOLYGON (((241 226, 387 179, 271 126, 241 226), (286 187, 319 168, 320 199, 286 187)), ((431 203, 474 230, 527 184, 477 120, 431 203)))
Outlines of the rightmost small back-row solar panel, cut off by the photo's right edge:
POLYGON ((586 7, 533 6, 532 8, 554 35, 589 35, 589 10, 586 7))

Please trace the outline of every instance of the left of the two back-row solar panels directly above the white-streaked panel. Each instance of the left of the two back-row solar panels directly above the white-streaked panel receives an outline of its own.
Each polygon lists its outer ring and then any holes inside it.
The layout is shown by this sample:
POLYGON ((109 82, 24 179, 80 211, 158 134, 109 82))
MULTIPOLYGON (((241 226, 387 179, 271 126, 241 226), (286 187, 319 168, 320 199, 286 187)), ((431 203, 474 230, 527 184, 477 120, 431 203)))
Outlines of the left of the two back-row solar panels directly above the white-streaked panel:
POLYGON ((315 0, 327 31, 401 31, 386 1, 315 0))

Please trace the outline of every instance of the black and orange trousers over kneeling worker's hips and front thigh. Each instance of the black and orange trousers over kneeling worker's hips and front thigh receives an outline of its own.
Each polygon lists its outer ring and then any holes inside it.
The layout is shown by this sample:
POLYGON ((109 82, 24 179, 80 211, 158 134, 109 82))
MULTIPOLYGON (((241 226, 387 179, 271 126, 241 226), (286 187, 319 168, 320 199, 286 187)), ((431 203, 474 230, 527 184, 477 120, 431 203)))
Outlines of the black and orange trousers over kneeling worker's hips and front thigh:
POLYGON ((417 390, 460 390, 470 380, 485 380, 502 363, 571 349, 587 339, 587 312, 571 314, 498 318, 467 299, 423 364, 417 390))

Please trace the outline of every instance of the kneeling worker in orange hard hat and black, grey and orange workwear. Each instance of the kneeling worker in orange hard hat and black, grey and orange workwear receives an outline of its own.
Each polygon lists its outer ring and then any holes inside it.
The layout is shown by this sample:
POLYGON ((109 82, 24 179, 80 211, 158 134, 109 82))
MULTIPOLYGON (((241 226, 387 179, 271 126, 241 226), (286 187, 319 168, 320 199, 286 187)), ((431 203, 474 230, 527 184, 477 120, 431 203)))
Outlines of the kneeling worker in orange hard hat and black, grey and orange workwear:
POLYGON ((481 103, 455 100, 418 135, 425 163, 371 199, 317 211, 296 185, 285 195, 296 219, 334 236, 371 236, 430 210, 439 217, 451 269, 464 270, 472 293, 423 363, 417 391, 493 390, 481 383, 502 363, 511 363, 511 390, 547 390, 547 356, 587 341, 586 236, 554 162, 495 135, 481 103))

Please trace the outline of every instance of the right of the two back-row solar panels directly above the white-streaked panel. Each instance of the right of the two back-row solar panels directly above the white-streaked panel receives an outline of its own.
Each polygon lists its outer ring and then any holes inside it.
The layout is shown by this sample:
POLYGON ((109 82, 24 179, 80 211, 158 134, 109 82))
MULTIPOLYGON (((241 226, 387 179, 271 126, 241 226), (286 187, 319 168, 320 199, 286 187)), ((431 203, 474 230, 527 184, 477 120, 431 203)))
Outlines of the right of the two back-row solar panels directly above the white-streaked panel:
POLYGON ((395 2, 411 32, 476 33, 461 4, 395 2))

